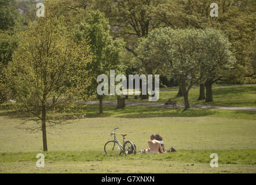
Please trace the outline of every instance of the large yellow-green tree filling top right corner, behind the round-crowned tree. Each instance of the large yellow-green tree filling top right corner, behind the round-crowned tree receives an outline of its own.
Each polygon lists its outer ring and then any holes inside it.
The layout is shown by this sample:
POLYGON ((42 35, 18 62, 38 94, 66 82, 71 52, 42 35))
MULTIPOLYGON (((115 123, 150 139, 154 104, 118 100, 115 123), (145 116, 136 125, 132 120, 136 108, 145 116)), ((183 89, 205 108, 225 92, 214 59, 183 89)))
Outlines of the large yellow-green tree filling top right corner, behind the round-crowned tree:
MULTIPOLYGON (((251 65, 250 45, 255 35, 255 7, 252 0, 217 0, 218 17, 210 17, 210 0, 166 1, 153 12, 155 20, 172 28, 212 27, 221 29, 232 43, 231 51, 237 58, 236 65, 229 71, 233 83, 254 83, 255 71, 251 65), (254 33, 254 34, 251 34, 254 33)), ((181 91, 179 91, 181 92, 181 91)), ((204 86, 200 83, 199 99, 204 97, 204 86)))

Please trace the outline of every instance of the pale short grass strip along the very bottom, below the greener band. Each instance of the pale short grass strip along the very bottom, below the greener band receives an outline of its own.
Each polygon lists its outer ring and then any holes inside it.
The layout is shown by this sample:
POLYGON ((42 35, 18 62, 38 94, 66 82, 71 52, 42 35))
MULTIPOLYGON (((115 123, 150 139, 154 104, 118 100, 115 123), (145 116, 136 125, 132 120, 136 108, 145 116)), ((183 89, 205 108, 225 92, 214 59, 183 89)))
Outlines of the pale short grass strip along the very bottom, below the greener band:
POLYGON ((255 165, 209 164, 176 161, 118 160, 45 162, 37 168, 35 161, 5 162, 0 173, 256 173, 255 165))

